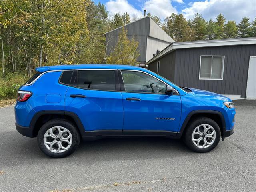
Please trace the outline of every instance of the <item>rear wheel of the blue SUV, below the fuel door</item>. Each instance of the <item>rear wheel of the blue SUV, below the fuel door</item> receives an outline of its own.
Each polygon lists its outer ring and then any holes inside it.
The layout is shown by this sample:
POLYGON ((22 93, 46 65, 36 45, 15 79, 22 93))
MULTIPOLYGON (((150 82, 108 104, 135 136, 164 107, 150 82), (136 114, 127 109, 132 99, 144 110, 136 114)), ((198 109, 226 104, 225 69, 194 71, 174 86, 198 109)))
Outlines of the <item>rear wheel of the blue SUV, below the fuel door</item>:
POLYGON ((44 154, 53 158, 63 158, 76 150, 80 143, 80 134, 71 122, 65 119, 52 119, 40 128, 37 141, 44 154))

